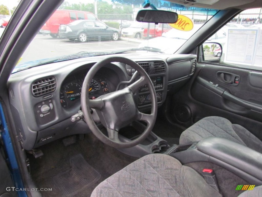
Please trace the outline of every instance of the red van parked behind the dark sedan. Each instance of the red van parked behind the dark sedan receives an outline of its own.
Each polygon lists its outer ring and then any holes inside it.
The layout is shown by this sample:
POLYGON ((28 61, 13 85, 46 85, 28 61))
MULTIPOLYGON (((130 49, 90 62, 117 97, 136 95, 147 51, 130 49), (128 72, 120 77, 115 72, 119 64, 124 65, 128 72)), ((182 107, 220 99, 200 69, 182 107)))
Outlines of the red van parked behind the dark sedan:
POLYGON ((56 10, 40 29, 40 33, 50 34, 51 37, 57 38, 59 25, 68 24, 75 20, 98 20, 91 12, 75 10, 56 10))

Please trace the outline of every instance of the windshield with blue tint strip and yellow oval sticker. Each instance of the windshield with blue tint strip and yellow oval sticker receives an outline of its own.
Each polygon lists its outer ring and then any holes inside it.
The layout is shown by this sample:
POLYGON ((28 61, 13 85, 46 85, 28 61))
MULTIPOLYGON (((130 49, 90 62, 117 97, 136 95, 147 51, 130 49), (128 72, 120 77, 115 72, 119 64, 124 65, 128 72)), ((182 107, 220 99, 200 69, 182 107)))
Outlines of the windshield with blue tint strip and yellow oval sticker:
MULTIPOLYGON (((13 72, 55 61, 121 51, 174 53, 217 12, 159 1, 155 7, 177 12, 180 17, 178 22, 141 23, 135 18, 138 11, 143 9, 141 7, 143 2, 143 0, 64 1, 39 29, 13 72), (191 29, 187 29, 188 22, 185 23, 183 17, 187 17, 189 23, 192 23, 191 29), (85 22, 81 23, 83 20, 85 22)), ((17 5, 12 6, 11 14, 17 5)), ((40 18, 36 20, 42 23, 40 18)), ((1 22, 1 25, 6 27, 8 20, 1 22)), ((0 33, 3 31, 4 28, 0 28, 0 33)))

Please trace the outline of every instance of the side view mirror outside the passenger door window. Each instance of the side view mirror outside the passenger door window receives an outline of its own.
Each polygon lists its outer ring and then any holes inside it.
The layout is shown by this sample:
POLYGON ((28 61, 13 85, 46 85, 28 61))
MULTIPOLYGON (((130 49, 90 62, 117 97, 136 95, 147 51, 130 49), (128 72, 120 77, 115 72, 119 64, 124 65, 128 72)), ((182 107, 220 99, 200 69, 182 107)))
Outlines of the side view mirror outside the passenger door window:
POLYGON ((221 58, 222 46, 220 43, 205 42, 202 44, 204 61, 216 61, 221 58))

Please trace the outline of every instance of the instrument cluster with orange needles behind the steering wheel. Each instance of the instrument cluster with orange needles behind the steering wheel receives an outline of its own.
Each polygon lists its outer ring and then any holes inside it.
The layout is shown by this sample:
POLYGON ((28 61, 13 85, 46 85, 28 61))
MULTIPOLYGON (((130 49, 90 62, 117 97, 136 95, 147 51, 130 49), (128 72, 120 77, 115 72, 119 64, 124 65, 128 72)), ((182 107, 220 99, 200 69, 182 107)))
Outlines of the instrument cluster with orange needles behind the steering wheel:
MULTIPOLYGON (((69 108, 80 100, 85 75, 75 74, 67 77, 60 89, 60 103, 63 108, 69 108)), ((104 76, 97 75, 90 82, 89 97, 94 99, 112 91, 111 82, 104 76)))

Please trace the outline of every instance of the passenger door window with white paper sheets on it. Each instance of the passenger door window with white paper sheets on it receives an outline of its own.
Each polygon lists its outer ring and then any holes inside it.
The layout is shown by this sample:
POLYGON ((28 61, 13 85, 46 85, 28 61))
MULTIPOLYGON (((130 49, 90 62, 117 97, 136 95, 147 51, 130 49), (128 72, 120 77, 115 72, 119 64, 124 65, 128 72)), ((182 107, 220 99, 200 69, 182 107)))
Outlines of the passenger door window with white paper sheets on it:
POLYGON ((261 8, 242 11, 208 39, 221 44, 222 55, 221 49, 215 47, 204 54, 221 55, 220 61, 214 63, 262 70, 261 16, 261 8))

